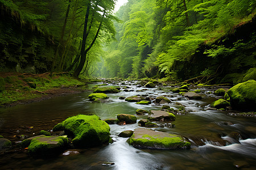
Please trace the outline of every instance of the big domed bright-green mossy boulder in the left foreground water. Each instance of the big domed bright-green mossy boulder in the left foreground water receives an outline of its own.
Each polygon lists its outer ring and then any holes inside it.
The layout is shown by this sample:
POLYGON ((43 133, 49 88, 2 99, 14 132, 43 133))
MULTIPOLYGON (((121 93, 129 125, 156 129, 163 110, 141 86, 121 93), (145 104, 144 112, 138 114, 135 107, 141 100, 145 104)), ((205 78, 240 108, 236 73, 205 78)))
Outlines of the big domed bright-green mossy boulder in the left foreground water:
MULTIPOLYGON (((76 147, 97 146, 109 141, 109 125, 96 115, 79 114, 67 118, 61 124, 65 133, 74 137, 72 143, 76 147)), ((59 124, 56 126, 61 127, 59 124)))

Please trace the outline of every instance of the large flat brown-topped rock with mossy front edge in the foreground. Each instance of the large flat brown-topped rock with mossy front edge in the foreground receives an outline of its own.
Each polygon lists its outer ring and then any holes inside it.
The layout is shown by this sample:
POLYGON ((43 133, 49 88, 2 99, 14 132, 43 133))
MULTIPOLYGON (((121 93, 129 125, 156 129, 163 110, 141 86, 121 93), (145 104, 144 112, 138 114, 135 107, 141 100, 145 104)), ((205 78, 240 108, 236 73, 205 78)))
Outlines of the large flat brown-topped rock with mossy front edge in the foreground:
POLYGON ((128 140, 130 145, 137 148, 170 149, 190 148, 191 143, 175 134, 154 131, 150 129, 135 129, 128 140))

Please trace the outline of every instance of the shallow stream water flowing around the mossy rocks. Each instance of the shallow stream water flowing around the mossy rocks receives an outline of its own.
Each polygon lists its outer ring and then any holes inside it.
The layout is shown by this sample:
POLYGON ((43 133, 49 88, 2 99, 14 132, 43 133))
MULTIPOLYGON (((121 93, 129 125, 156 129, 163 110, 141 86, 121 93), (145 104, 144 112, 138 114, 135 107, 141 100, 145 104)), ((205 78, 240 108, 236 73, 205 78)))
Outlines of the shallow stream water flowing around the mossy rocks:
MULTIPOLYGON (((97 114, 102 120, 117 114, 134 114, 137 109, 160 110, 162 105, 138 105, 119 99, 120 96, 164 96, 185 106, 185 115, 176 115, 174 128, 152 128, 180 134, 191 141, 190 150, 142 150, 130 146, 127 138, 118 134, 139 128, 138 124, 110 125, 114 143, 83 150, 67 150, 65 154, 48 159, 35 159, 26 151, 11 150, 0 155, 0 169, 256 169, 256 120, 231 117, 225 111, 210 111, 209 104, 220 98, 207 95, 203 100, 187 100, 168 88, 143 90, 136 82, 125 82, 130 92, 108 94, 106 103, 91 103, 89 92, 55 97, 38 103, 16 105, 0 110, 0 134, 13 143, 22 141, 20 135, 31 137, 40 130, 50 130, 57 123, 76 114, 97 114), (234 137, 234 134, 236 134, 234 137), (79 153, 78 153, 79 152, 79 153), (114 163, 110 165, 109 163, 114 163)), ((121 84, 121 83, 119 83, 121 84)), ((90 84, 93 87, 95 84, 90 84)), ((122 87, 122 86, 121 86, 122 87)), ((212 89, 201 88, 203 92, 212 89)), ((137 116, 137 122, 147 115, 137 116)), ((159 122, 157 122, 160 124, 159 122)))

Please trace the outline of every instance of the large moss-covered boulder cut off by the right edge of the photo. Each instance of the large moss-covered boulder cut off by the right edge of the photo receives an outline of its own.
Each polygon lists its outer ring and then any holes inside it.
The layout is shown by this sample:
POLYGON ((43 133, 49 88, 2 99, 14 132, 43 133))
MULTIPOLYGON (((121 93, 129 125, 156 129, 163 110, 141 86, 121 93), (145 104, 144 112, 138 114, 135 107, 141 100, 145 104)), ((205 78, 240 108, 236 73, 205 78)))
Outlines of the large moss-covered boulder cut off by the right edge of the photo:
POLYGON ((255 111, 256 81, 248 80, 228 90, 232 108, 255 111))

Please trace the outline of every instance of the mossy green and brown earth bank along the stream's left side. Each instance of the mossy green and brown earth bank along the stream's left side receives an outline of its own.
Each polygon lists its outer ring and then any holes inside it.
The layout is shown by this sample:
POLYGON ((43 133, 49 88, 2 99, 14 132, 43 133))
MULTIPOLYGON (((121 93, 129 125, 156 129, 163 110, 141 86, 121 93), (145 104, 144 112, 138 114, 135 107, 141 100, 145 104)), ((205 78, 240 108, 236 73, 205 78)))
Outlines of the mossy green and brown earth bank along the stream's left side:
POLYGON ((0 73, 0 107, 27 104, 88 90, 89 79, 74 79, 66 73, 0 73))

